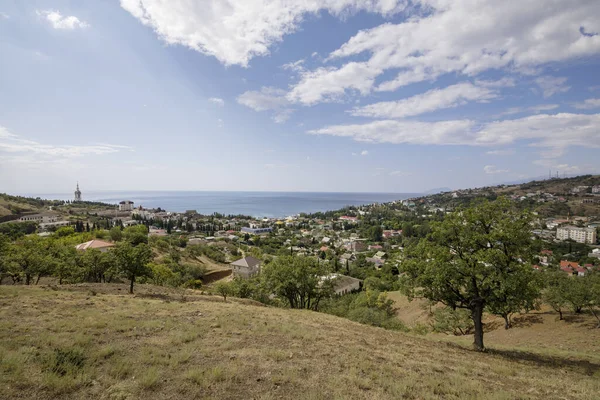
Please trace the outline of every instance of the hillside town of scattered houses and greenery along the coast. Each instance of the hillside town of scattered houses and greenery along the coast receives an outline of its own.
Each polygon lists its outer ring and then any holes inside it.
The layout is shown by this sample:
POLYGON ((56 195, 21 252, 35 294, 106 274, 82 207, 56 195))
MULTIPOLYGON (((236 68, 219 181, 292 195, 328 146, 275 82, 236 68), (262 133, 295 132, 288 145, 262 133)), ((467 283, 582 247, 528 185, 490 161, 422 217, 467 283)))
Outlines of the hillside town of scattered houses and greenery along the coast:
MULTIPOLYGON (((534 269, 556 268, 569 276, 584 276, 600 265, 600 185, 580 185, 581 180, 545 181, 547 190, 534 190, 535 182, 501 185, 284 218, 177 213, 147 209, 130 200, 117 205, 87 203, 77 184, 72 202, 12 218, 33 224, 42 237, 65 227, 75 232, 110 232, 143 225, 150 241, 166 241, 170 246, 176 240, 181 247, 214 249, 207 251, 207 267, 208 272, 218 271, 219 279, 251 278, 260 273, 261 265, 279 256, 311 257, 331 267, 339 278, 335 292, 343 294, 360 290, 370 276, 393 280, 404 246, 425 237, 430 222, 474 199, 497 196, 533 210, 531 232, 539 247, 534 269)), ((77 249, 106 250, 114 246, 110 239, 110 235, 96 236, 77 249)))

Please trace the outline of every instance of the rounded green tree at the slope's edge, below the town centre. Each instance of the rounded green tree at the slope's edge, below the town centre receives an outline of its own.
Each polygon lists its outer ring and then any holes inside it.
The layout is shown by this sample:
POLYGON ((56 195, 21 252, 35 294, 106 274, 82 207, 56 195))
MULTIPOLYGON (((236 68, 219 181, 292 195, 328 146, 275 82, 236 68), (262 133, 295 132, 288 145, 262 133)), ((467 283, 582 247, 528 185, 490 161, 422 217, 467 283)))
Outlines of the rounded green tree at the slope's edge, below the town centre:
POLYGON ((322 279, 328 273, 325 265, 312 258, 283 256, 263 267, 261 280, 289 307, 317 311, 319 302, 333 293, 333 280, 322 279))

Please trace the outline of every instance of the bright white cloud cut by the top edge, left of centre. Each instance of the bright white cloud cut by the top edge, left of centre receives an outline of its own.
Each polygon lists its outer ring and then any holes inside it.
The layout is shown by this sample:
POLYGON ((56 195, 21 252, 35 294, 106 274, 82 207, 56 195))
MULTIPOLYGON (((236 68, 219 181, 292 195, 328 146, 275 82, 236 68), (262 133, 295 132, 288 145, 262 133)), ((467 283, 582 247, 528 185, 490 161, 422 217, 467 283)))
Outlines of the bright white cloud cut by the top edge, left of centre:
POLYGON ((247 66, 295 32, 306 14, 334 16, 358 11, 391 15, 402 0, 121 0, 121 7, 168 44, 214 56, 225 65, 247 66))

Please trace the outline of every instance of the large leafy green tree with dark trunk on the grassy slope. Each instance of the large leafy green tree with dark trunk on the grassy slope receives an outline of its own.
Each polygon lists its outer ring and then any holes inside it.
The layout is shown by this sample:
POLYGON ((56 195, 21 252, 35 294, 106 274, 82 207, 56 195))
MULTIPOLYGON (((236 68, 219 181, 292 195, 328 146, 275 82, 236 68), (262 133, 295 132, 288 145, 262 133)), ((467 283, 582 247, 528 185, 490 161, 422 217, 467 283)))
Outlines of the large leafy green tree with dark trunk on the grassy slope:
POLYGON ((531 217, 506 199, 480 202, 432 223, 432 232, 406 250, 402 265, 410 298, 470 311, 474 347, 483 344, 483 311, 514 312, 539 294, 529 264, 531 217))

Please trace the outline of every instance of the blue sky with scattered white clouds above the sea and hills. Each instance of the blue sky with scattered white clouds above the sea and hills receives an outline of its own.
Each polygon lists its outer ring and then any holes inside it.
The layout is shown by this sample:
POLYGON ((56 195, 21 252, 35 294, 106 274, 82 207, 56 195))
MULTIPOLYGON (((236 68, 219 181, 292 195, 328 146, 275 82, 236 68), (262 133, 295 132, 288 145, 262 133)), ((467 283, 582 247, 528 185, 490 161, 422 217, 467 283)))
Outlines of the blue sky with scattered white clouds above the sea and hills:
POLYGON ((0 192, 600 173, 598 0, 0 0, 0 192))

